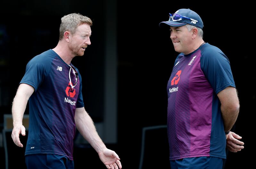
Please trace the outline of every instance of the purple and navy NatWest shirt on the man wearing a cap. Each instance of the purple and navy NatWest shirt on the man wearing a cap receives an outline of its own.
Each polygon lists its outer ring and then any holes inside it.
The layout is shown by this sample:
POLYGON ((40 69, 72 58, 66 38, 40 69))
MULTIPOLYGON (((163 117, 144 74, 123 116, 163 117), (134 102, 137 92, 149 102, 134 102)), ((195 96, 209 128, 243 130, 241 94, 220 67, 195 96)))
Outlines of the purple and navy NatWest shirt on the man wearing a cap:
POLYGON ((226 158, 218 92, 236 87, 223 52, 208 43, 175 60, 167 85, 170 160, 226 158))

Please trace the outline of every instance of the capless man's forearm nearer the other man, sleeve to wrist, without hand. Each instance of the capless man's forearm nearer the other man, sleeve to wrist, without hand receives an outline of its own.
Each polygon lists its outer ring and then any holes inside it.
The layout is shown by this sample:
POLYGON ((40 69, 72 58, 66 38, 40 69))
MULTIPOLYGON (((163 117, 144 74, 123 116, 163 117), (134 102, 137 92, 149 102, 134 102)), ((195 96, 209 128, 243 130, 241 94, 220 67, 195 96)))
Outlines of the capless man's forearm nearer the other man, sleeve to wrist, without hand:
POLYGON ((85 110, 83 113, 76 112, 75 122, 78 131, 92 145, 97 153, 106 148, 95 129, 92 118, 86 113, 85 110))

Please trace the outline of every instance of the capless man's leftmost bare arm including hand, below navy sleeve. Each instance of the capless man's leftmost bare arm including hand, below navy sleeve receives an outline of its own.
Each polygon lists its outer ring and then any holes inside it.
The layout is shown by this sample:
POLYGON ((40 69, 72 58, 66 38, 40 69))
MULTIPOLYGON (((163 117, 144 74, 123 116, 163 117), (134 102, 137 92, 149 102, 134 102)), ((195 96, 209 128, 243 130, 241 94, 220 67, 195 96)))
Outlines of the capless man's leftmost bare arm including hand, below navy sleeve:
POLYGON ((23 114, 25 112, 28 99, 34 91, 34 87, 22 83, 20 84, 12 102, 12 140, 19 147, 23 147, 23 145, 20 143, 20 134, 22 136, 26 135, 25 127, 22 125, 23 114))

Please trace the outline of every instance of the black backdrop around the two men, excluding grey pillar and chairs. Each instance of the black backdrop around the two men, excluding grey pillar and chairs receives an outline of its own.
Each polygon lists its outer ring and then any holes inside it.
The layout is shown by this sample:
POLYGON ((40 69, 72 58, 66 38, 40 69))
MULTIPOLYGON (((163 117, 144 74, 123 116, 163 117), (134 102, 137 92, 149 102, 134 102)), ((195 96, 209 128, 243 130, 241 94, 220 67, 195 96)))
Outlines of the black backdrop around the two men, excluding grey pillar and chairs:
MULTIPOLYGON (((103 121, 105 5, 108 1, 12 1, 0 11, 0 123, 11 114, 11 102, 27 62, 58 43, 60 18, 79 12, 93 21, 90 45, 72 63, 83 77, 85 108, 94 122, 103 121)), ((226 168, 243 167, 251 159, 255 127, 255 55, 253 5, 222 2, 118 1, 117 4, 117 152, 123 168, 138 168, 143 127, 166 125, 167 93, 174 60, 168 29, 158 24, 180 8, 196 11, 204 21, 204 41, 229 58, 240 99, 240 113, 233 131, 242 136, 244 150, 229 153, 226 168), (207 4, 206 4, 207 3, 207 4)), ((28 111, 25 112, 28 114, 28 111)), ((3 126, 2 126, 3 127, 3 126)), ((9 135, 9 166, 24 168, 24 149, 9 135)), ((25 138, 26 139, 26 138, 25 138)), ((24 139, 23 143, 26 142, 24 139)), ((143 168, 169 168, 169 147, 164 129, 147 132, 143 168)), ((0 147, 0 168, 4 149, 0 147)), ((89 145, 75 145, 76 168, 104 168, 89 145)))

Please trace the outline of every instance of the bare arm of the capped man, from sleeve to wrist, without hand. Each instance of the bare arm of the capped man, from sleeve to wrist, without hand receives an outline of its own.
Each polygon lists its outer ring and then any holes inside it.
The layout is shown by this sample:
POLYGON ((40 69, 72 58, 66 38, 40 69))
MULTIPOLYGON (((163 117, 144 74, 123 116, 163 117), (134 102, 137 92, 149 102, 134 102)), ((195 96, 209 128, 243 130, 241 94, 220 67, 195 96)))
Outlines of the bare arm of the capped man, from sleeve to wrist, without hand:
POLYGON ((220 110, 224 122, 224 130, 227 132, 235 124, 239 113, 240 105, 236 88, 228 86, 220 91, 217 96, 221 103, 220 110))

